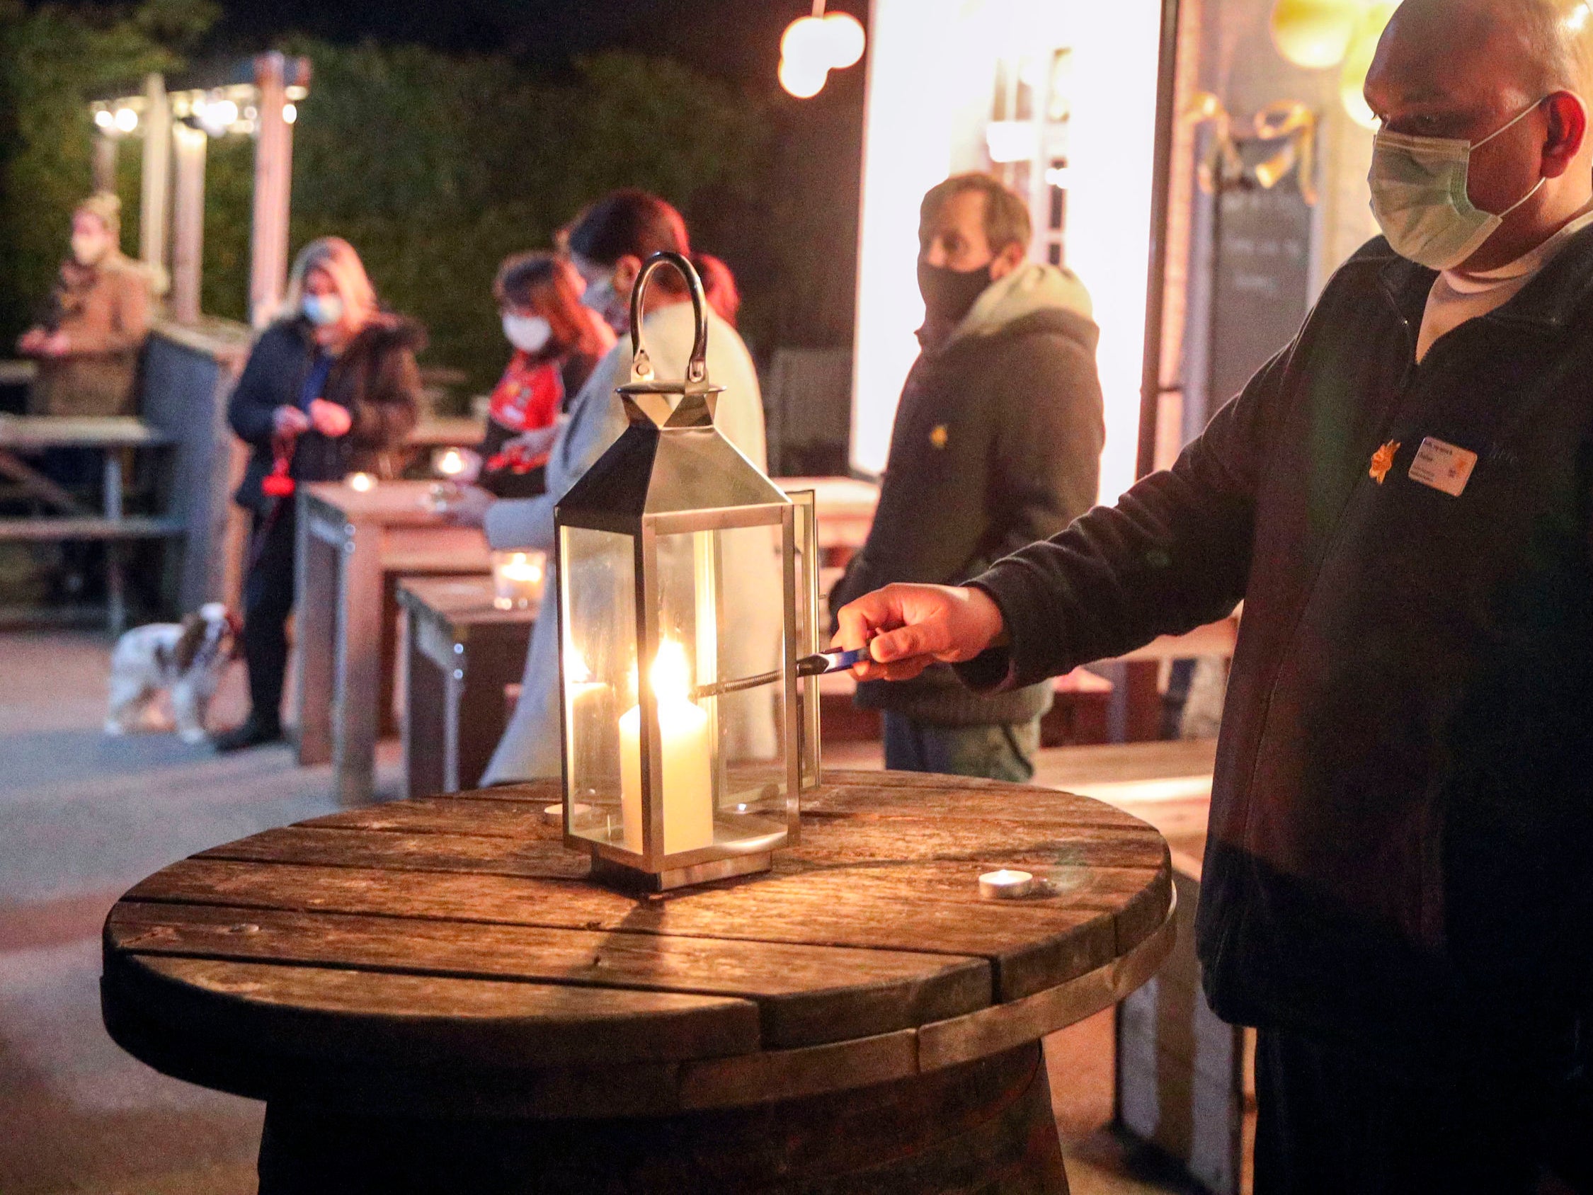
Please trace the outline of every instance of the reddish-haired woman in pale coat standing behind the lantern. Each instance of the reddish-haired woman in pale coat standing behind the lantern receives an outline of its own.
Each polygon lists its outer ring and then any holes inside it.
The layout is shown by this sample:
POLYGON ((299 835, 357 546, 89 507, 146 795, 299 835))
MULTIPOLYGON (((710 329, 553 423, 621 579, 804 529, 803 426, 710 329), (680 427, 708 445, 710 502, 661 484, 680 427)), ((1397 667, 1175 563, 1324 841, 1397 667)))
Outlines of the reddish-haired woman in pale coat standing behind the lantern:
MULTIPOLYGON (((613 191, 581 212, 569 228, 567 249, 570 263, 586 279, 585 301, 596 311, 605 312, 610 323, 618 312, 629 312, 631 292, 647 258, 664 250, 687 257, 691 253, 687 225, 680 214, 658 196, 636 190, 613 191)), ((648 282, 645 301, 644 336, 653 368, 660 378, 683 378, 696 327, 685 284, 675 271, 663 268, 648 282)), ((707 374, 715 386, 725 387, 718 397, 714 424, 749 460, 763 468, 766 448, 758 373, 736 330, 714 314, 712 308, 704 315, 709 325, 707 374)), ((548 459, 548 492, 524 502, 494 502, 479 515, 467 502, 460 511, 465 521, 484 518, 487 540, 494 548, 551 553, 554 505, 624 432, 624 408, 615 387, 631 378, 629 315, 624 317, 624 325, 626 331, 621 333, 620 343, 604 357, 570 405, 569 422, 559 427, 548 459)), ((726 545, 726 574, 771 575, 769 570, 738 566, 738 551, 744 550, 747 550, 744 543, 726 545)), ((550 585, 530 633, 519 704, 487 765, 484 784, 559 774, 556 601, 556 586, 550 585)), ((769 645, 777 644, 781 634, 777 593, 763 593, 755 582, 739 585, 728 617, 741 633, 726 648, 726 656, 733 652, 757 655, 765 641, 769 645)), ((738 658, 728 658, 726 674, 747 676, 760 671, 755 666, 738 671, 741 663, 738 658)), ((738 706, 728 701, 723 709, 731 750, 755 752, 760 744, 773 746, 763 744, 774 730, 773 711, 755 711, 750 703, 738 706), (763 717, 763 712, 768 717, 763 717)))

